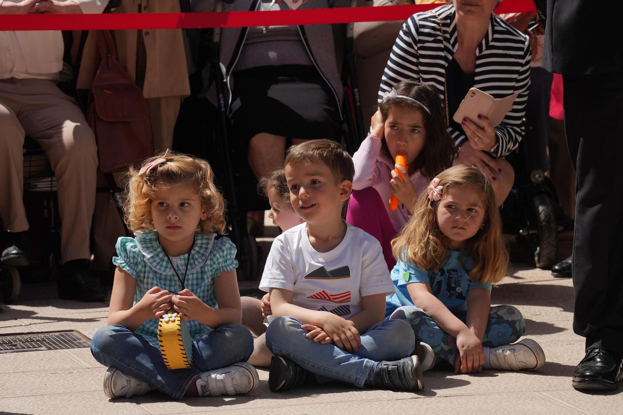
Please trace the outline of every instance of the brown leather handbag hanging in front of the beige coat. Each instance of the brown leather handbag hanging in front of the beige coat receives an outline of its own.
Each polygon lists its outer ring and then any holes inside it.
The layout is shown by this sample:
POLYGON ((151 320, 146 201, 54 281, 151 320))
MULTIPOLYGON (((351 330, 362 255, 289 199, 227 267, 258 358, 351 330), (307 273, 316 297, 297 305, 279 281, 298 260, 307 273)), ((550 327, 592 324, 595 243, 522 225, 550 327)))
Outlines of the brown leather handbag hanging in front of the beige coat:
POLYGON ((125 171, 154 154, 143 92, 117 60, 110 31, 97 31, 101 59, 88 97, 88 124, 97 139, 100 171, 125 171))

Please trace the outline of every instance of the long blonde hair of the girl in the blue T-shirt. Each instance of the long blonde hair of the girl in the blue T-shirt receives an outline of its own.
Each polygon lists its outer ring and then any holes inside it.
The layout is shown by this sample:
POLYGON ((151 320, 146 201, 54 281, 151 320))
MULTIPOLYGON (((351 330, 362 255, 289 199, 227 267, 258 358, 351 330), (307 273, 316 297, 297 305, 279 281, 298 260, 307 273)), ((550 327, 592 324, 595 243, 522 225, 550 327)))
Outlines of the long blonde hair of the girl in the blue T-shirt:
MULTIPOLYGON (((477 167, 458 165, 437 177, 439 186, 443 187, 442 195, 449 188, 472 188, 480 193, 485 218, 483 228, 468 239, 464 248, 464 252, 473 259, 473 267, 468 272, 472 281, 481 284, 499 282, 508 270, 508 248, 502 239, 500 212, 487 175, 477 167)), ((427 271, 438 270, 445 264, 450 245, 448 237, 437 224, 439 203, 430 201, 427 191, 422 192, 411 219, 391 242, 396 259, 427 271)))

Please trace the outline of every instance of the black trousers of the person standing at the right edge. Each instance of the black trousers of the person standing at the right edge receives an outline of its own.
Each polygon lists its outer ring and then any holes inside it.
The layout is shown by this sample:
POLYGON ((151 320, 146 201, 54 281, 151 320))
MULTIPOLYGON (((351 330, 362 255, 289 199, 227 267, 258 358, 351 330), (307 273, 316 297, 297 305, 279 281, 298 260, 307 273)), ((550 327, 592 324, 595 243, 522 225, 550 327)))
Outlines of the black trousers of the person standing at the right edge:
POLYGON ((623 71, 563 75, 576 170, 573 330, 623 356, 623 71))

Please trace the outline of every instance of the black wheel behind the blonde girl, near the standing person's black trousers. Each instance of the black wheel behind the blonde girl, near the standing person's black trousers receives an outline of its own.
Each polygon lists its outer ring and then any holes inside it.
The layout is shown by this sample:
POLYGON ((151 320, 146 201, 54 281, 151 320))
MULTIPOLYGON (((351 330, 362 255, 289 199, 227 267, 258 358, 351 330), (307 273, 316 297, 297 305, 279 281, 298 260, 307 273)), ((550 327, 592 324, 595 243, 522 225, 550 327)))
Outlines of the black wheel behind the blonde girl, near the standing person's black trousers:
POLYGON ((531 198, 531 208, 535 221, 528 236, 530 252, 534 254, 537 268, 549 269, 556 264, 558 250, 558 225, 551 198, 546 193, 537 193, 531 198))

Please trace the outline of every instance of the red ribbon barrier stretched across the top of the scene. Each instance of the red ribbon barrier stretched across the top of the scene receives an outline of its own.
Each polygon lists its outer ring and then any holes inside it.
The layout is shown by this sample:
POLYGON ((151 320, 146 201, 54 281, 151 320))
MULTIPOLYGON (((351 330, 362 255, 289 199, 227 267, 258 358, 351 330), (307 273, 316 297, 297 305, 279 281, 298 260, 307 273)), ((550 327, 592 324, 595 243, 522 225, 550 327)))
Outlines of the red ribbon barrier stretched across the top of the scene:
MULTIPOLYGON (((202 29, 404 21, 414 13, 439 6, 440 4, 419 4, 212 13, 0 14, 0 29, 3 31, 202 29)), ((495 13, 498 14, 529 11, 536 11, 532 0, 506 0, 495 9, 495 13)))

